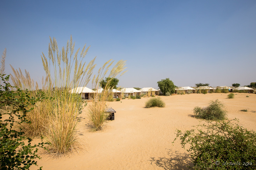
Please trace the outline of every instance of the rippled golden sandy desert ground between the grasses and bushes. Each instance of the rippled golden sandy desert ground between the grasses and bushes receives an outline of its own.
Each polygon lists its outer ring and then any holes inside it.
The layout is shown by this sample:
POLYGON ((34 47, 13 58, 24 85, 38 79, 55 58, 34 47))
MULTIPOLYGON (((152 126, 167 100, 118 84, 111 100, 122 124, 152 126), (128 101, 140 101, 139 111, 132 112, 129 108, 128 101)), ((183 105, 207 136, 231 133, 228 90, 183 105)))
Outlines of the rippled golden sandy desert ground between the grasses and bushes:
POLYGON ((38 165, 44 170, 188 169, 187 165, 193 165, 188 153, 172 141, 176 129, 190 130, 200 122, 191 117, 195 106, 219 99, 226 105, 229 120, 238 118, 239 125, 256 131, 256 94, 236 94, 234 99, 228 99, 228 94, 161 96, 165 108, 144 108, 148 97, 110 102, 109 107, 116 110, 115 120, 107 121, 103 132, 89 132, 85 108, 79 137, 88 142, 87 151, 58 159, 42 154, 38 165))

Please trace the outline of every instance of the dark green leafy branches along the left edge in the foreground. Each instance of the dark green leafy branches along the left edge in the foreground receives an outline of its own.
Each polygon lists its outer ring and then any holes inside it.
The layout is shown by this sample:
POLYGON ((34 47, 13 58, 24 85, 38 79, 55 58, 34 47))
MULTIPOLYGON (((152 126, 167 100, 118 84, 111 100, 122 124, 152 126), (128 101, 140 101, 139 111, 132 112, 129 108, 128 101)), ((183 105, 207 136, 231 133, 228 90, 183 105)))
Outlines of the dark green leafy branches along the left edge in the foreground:
POLYGON ((0 169, 25 170, 29 169, 31 165, 37 165, 37 161, 33 160, 35 158, 40 159, 36 147, 43 147, 44 143, 31 145, 32 139, 24 137, 21 126, 19 128, 14 127, 14 124, 29 123, 26 120, 26 114, 33 109, 29 106, 34 106, 36 102, 42 101, 45 97, 44 93, 30 97, 28 90, 22 91, 19 88, 16 91, 10 90, 9 88, 12 88, 12 86, 7 83, 9 75, 5 78, 4 76, 0 75, 5 84, 0 85, 0 108, 2 109, 0 112, 0 169), (11 109, 3 113, 3 111, 6 111, 5 107, 11 109), (3 114, 9 117, 4 116, 5 118, 3 118, 3 114), (28 140, 27 144, 25 144, 25 140, 28 140))

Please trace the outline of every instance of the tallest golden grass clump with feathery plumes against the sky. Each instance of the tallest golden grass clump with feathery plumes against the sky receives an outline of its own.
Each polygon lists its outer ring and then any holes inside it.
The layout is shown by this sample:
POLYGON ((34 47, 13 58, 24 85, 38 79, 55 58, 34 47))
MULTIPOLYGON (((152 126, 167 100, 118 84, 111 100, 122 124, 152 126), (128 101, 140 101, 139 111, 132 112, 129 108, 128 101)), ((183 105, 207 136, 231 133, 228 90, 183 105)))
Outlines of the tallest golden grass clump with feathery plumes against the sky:
POLYGON ((86 45, 80 57, 77 57, 80 49, 74 54, 75 43, 72 36, 67 41, 66 49, 62 47, 60 51, 56 38, 50 37, 49 62, 44 53, 41 56, 46 72, 44 86, 49 92, 49 97, 53 97, 53 101, 48 101, 51 107, 47 109, 49 123, 44 135, 50 143, 48 151, 56 156, 78 151, 82 146, 76 132, 82 98, 76 93, 78 87, 88 84, 96 66, 96 57, 85 65, 84 57, 89 47, 84 50, 85 48, 86 45))

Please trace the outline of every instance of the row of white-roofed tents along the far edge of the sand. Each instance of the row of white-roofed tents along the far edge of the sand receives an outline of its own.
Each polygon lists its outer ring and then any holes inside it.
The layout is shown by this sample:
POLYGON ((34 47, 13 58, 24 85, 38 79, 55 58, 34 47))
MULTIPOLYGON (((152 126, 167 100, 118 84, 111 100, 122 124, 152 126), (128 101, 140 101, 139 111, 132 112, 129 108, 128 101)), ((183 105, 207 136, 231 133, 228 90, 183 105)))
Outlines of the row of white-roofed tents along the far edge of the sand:
MULTIPOLYGON (((232 90, 233 90, 233 88, 227 87, 227 86, 219 86, 216 88, 212 88, 212 87, 208 87, 208 86, 201 86, 196 89, 191 88, 191 87, 179 87, 179 88, 175 89, 175 93, 177 93, 177 90, 184 90, 185 92, 188 92, 190 90, 192 93, 195 93, 196 90, 206 90, 206 89, 208 89, 208 92, 211 92, 211 91, 213 92, 213 90, 216 90, 217 88, 218 89, 228 89, 230 92, 232 92, 232 90)), ((81 97, 84 99, 91 99, 91 97, 93 97, 92 94, 101 93, 102 90, 103 90, 103 88, 100 88, 100 89, 94 91, 88 87, 77 87, 77 88, 73 88, 72 90, 70 90, 70 92, 81 94, 81 97)), ((249 88, 249 87, 237 87, 237 88, 235 88, 235 90, 248 90, 248 92, 252 92, 252 93, 254 92, 253 91, 254 89, 249 88)), ((156 90, 155 88, 152 88, 152 87, 145 87, 145 88, 141 88, 140 90, 136 90, 135 88, 123 88, 123 89, 121 89, 121 91, 112 89, 112 92, 113 92, 114 98, 121 97, 121 93, 123 93, 124 96, 128 96, 128 95, 136 96, 136 95, 141 95, 141 94, 147 94, 148 92, 151 92, 150 95, 161 94, 160 89, 156 90)))

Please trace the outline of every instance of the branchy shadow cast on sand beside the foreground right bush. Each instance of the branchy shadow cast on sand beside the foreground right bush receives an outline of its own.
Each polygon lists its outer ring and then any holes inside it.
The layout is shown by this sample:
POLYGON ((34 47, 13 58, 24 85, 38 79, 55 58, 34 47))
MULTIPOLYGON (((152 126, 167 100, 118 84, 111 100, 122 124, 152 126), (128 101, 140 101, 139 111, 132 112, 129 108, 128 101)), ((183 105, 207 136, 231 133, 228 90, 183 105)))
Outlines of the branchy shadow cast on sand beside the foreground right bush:
POLYGON ((188 154, 179 153, 179 151, 173 152, 171 149, 167 150, 169 158, 151 157, 151 160, 149 160, 151 165, 156 164, 165 170, 189 170, 188 166, 193 167, 193 162, 188 154))

